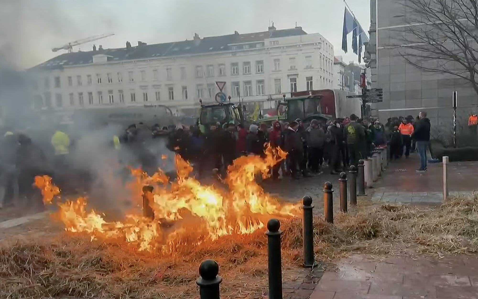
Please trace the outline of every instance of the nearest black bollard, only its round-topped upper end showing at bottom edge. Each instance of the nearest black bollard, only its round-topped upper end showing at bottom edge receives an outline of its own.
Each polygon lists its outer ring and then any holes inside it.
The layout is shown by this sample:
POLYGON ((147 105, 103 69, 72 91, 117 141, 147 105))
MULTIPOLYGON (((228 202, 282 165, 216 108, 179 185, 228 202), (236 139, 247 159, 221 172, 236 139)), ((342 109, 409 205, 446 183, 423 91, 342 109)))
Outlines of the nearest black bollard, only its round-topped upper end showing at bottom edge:
POLYGON ((219 265, 215 260, 205 260, 199 266, 199 275, 196 284, 199 286, 199 299, 219 299, 219 284, 222 277, 219 273, 219 265))

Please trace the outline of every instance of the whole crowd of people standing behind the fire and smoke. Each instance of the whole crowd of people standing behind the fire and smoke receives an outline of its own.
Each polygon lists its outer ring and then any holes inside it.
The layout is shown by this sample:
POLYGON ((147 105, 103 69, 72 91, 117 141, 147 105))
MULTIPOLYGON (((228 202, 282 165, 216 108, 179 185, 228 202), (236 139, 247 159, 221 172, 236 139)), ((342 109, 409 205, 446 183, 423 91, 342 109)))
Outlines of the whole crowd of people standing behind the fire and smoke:
MULTIPOLYGON (((421 160, 417 171, 426 171, 429 139, 430 121, 426 113, 421 112, 416 119, 411 115, 389 118, 385 125, 378 119, 360 119, 352 114, 329 121, 313 119, 307 124, 301 119, 290 123, 274 121, 271 126, 265 122, 248 127, 216 123, 205 133, 198 126, 147 127, 139 123, 128 126, 122 134, 113 135, 107 144, 118 152, 134 153, 133 160, 121 161, 119 155, 120 163, 136 163, 131 166, 140 166, 151 174, 161 166, 158 157, 161 150, 152 149, 157 149, 158 140, 163 140, 165 148, 194 164, 197 176, 202 178, 214 173, 225 174, 228 166, 241 155, 264 156, 265 146, 270 143, 288 153, 285 161, 272 167, 272 179, 277 180, 284 176, 298 179, 317 175, 324 171, 325 165, 330 173, 337 174, 369 157, 376 147, 387 145, 391 159, 408 157, 411 151, 417 150, 421 160)), ((68 156, 75 140, 56 130, 50 143, 54 153, 51 159, 45 158, 48 155, 42 147, 25 134, 11 131, 4 134, 0 152, 0 208, 7 193, 13 198, 22 192, 29 193, 35 175, 51 173, 56 176, 56 182, 68 181, 65 172, 71 170, 68 156)), ((79 176, 88 177, 85 173, 79 176)))

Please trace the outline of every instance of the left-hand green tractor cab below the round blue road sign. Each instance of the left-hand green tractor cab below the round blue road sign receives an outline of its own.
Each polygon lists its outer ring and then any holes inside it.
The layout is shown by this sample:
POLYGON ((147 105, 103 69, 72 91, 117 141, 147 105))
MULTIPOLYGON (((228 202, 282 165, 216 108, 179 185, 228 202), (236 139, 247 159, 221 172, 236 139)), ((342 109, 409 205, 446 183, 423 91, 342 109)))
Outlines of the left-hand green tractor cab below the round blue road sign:
POLYGON ((221 127, 229 123, 239 125, 243 120, 242 109, 232 103, 201 104, 201 114, 198 118, 198 124, 201 132, 205 133, 209 130, 211 124, 220 123, 221 127))

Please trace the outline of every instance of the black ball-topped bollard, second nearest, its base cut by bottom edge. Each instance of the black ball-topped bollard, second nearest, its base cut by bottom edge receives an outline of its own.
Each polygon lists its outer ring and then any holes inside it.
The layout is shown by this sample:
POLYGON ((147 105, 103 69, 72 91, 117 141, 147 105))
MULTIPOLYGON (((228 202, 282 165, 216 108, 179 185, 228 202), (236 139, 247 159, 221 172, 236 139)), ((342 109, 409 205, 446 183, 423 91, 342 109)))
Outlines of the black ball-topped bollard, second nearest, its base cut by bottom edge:
POLYGON ((277 219, 267 222, 267 251, 269 264, 269 298, 282 299, 281 223, 277 219))

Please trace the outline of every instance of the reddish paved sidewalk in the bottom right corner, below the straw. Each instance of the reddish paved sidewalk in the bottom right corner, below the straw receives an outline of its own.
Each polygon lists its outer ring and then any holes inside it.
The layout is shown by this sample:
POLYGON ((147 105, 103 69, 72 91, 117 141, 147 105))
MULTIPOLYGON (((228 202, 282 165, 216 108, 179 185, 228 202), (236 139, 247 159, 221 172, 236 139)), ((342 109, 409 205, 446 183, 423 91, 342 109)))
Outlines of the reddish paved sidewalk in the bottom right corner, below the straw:
POLYGON ((310 299, 478 299, 478 256, 365 255, 324 273, 310 299))

